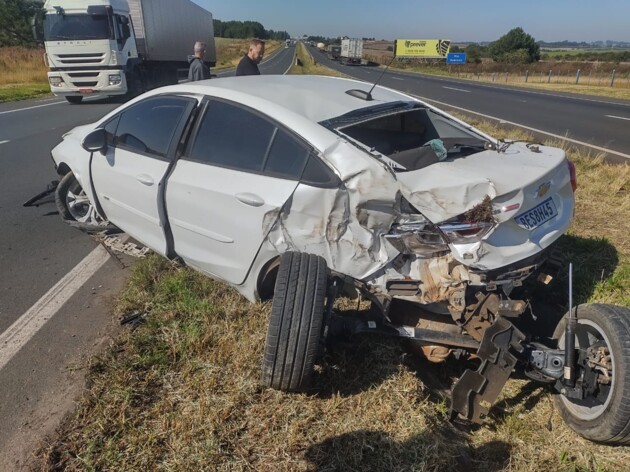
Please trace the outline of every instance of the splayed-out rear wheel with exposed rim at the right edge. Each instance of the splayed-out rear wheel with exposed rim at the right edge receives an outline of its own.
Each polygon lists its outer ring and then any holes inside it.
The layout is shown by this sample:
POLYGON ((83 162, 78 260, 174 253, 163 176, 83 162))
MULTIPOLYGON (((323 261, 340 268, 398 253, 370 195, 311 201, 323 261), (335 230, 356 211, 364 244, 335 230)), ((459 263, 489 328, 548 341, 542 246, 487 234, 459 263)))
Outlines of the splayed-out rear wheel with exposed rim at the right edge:
MULTIPOLYGON (((598 365, 591 362, 596 367, 597 387, 583 400, 556 395, 555 405, 567 425, 585 438, 630 444, 630 310, 604 304, 580 305, 576 309, 575 347, 582 352, 595 348, 602 355, 598 365)), ((567 319, 568 314, 554 332, 561 349, 567 319)), ((578 368, 578 378, 583 369, 578 368)))

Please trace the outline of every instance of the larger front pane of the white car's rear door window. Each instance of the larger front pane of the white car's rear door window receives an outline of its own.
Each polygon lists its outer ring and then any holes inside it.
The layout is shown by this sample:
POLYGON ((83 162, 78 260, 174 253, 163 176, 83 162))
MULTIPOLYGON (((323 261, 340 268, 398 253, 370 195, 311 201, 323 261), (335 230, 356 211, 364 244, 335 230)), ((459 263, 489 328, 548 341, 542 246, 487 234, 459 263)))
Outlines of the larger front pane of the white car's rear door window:
POLYGON ((275 126, 251 111, 210 101, 189 158, 221 167, 261 172, 275 126))

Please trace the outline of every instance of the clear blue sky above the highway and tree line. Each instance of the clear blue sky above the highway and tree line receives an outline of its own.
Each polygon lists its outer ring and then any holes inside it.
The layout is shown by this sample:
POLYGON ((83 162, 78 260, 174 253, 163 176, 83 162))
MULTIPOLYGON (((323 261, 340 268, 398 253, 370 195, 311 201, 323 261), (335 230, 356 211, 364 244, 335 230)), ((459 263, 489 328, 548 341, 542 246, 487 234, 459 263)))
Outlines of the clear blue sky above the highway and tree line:
POLYGON ((542 41, 630 41, 630 0, 194 0, 215 19, 293 36, 492 41, 522 27, 542 41))

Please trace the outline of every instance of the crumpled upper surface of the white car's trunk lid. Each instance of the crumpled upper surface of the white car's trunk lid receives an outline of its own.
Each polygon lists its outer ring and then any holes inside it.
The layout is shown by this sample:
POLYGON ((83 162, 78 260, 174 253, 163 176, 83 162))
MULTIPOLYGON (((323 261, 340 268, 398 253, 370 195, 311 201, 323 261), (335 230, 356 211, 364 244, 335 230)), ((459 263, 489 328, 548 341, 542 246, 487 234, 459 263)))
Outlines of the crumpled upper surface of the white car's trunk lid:
POLYGON ((461 215, 487 196, 527 187, 565 159, 562 149, 513 143, 504 152, 487 150, 397 174, 401 193, 433 223, 461 215), (513 159, 518 156, 518 159, 513 159))

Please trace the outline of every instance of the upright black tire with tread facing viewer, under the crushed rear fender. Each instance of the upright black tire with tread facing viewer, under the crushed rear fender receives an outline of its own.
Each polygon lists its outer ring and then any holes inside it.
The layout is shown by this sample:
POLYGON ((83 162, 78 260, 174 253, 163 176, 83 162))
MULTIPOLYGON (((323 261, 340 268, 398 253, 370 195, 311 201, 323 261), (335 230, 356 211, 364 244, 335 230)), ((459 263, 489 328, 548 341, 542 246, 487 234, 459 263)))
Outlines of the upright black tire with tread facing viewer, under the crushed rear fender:
POLYGON ((308 387, 322 335, 327 274, 322 257, 282 255, 262 362, 265 385, 286 392, 308 387))

